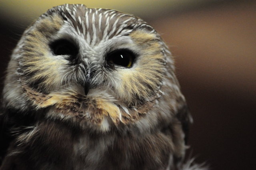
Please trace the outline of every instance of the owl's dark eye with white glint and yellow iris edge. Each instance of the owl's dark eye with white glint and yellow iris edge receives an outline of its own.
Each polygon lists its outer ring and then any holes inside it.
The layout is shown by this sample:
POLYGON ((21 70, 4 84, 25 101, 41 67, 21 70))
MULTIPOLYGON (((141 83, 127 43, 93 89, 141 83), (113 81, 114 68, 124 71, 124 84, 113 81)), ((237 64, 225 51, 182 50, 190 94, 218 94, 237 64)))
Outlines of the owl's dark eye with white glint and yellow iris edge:
POLYGON ((130 50, 115 50, 107 55, 107 62, 122 67, 130 67, 134 62, 134 58, 135 55, 130 50))

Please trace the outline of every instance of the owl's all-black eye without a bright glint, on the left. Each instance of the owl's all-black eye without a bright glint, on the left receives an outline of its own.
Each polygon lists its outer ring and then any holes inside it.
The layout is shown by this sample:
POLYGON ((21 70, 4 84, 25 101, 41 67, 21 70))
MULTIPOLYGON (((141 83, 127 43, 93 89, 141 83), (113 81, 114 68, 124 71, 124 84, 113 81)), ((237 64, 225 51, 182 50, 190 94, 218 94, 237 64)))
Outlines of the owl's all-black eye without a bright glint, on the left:
POLYGON ((78 54, 78 48, 68 40, 57 40, 51 45, 52 52, 55 55, 68 55, 76 56, 78 54))

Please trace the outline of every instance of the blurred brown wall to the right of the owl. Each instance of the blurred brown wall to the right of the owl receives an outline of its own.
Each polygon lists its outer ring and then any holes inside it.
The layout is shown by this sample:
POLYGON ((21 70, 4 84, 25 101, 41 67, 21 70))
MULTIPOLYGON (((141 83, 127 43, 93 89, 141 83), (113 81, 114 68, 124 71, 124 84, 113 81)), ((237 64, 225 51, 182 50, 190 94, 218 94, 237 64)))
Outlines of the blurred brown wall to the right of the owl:
POLYGON ((150 24, 176 57, 194 118, 189 144, 216 170, 256 169, 256 2, 222 2, 150 24))

